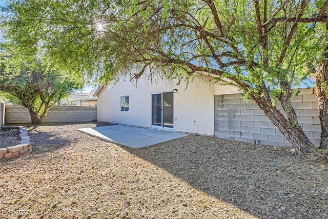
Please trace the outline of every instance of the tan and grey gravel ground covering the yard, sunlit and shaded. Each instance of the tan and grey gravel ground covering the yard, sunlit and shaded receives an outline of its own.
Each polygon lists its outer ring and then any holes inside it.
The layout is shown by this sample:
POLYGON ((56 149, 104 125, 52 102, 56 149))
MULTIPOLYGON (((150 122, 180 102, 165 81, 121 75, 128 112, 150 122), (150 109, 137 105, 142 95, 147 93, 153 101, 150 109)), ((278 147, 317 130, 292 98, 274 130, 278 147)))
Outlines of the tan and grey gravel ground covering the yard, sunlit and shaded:
POLYGON ((0 218, 328 218, 326 151, 193 135, 132 149, 76 130, 101 125, 28 127, 32 153, 0 161, 0 218))

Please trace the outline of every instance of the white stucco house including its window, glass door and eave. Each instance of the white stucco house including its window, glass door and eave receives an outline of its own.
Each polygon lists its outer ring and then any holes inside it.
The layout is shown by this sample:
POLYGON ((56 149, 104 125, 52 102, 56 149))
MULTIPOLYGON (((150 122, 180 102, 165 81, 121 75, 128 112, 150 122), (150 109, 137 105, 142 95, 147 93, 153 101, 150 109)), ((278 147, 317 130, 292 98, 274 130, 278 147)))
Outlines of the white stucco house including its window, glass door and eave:
POLYGON ((144 76, 136 87, 129 79, 95 92, 98 121, 213 136, 214 95, 236 91, 205 75, 190 79, 188 86, 144 76))

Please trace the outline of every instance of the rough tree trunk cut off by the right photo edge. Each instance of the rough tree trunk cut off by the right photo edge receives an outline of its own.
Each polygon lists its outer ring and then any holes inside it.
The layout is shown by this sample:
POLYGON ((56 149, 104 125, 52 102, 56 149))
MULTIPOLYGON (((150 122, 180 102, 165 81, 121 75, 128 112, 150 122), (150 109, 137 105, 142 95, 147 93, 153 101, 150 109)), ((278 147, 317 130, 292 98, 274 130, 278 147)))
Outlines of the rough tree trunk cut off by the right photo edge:
POLYGON ((328 46, 323 54, 324 60, 315 72, 317 96, 319 101, 319 118, 321 125, 321 140, 319 148, 325 149, 328 145, 328 46))

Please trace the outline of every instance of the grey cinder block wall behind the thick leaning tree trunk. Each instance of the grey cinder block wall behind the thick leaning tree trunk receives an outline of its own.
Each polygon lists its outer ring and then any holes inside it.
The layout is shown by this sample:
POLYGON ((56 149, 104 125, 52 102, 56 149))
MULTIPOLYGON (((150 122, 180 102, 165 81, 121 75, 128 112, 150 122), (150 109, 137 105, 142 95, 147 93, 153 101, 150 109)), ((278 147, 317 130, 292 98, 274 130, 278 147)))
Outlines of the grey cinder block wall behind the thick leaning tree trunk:
MULTIPOLYGON (((318 98, 315 89, 300 89, 292 97, 293 107, 305 134, 316 146, 320 144, 318 98)), ((282 107, 277 103, 277 109, 282 107)), ((270 122, 264 112, 253 102, 244 102, 240 94, 214 96, 214 135, 233 141, 272 146, 291 146, 282 133, 270 122)))

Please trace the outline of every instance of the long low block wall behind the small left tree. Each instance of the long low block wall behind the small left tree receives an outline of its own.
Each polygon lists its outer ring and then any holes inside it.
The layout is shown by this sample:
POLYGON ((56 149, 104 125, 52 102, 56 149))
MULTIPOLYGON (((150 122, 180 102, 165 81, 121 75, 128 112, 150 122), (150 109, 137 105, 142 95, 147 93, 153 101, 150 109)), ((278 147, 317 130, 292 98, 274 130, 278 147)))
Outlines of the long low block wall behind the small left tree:
MULTIPOLYGON (((53 106, 42 123, 91 122, 97 120, 97 107, 53 106)), ((20 105, 6 105, 6 124, 31 123, 29 111, 20 105)))

